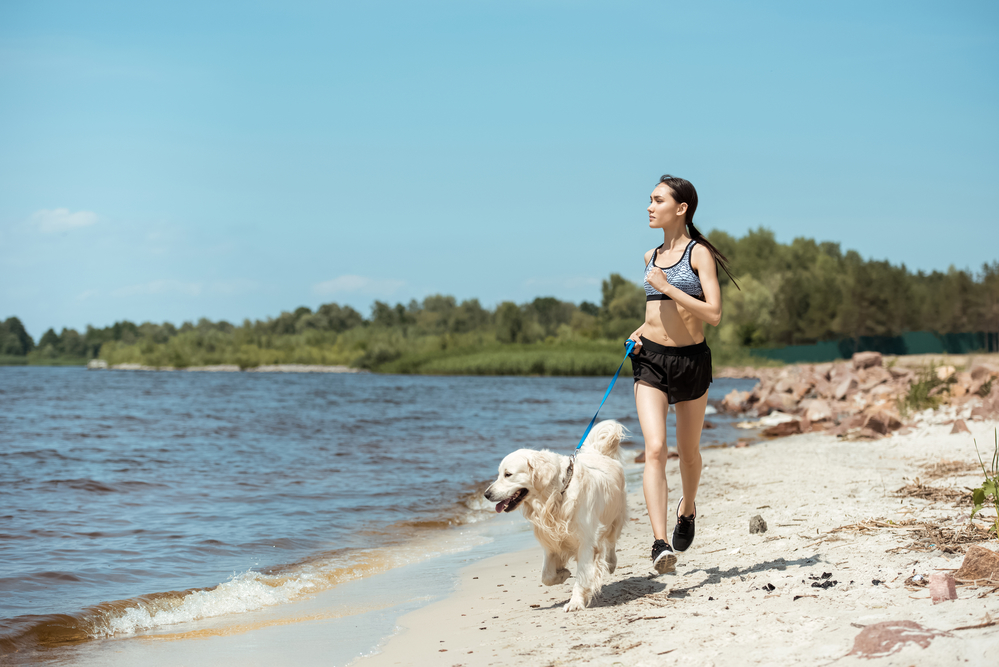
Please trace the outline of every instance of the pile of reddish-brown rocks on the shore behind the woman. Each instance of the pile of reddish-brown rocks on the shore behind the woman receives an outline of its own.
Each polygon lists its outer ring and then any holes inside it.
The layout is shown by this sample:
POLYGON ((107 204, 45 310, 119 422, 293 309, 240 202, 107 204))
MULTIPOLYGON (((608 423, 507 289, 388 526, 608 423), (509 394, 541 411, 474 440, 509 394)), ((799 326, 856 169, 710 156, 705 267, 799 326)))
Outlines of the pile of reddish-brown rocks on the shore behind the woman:
MULTIPOLYGON (((784 368, 728 369, 728 376, 757 377, 750 391, 732 391, 721 403, 730 413, 764 417, 791 415, 763 431, 785 436, 828 431, 855 438, 880 438, 902 428, 900 399, 918 373, 912 368, 885 367, 881 353, 858 352, 849 362, 802 364, 784 368), (741 373, 741 374, 740 374, 741 373)), ((942 384, 930 391, 943 403, 970 409, 972 419, 999 419, 999 368, 975 365, 957 372, 953 366, 935 369, 942 384)))

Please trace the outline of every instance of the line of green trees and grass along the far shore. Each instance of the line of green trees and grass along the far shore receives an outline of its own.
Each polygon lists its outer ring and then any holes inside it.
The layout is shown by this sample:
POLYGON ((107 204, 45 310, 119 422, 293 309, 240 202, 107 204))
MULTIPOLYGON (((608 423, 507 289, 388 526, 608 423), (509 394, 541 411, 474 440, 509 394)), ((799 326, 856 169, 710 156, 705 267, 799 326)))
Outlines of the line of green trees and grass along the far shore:
MULTIPOLYGON (((843 252, 836 243, 797 238, 782 244, 762 228, 738 239, 714 231, 709 239, 728 256, 739 281, 737 287, 720 274, 724 317, 718 328, 707 327, 716 358, 745 356, 760 347, 907 331, 999 332, 999 261, 977 272, 913 273, 905 265, 843 252)), ((38 362, 101 357, 111 363, 178 367, 343 363, 376 370, 416 368, 400 360, 470 348, 620 341, 641 323, 644 312, 642 288, 611 274, 602 281, 599 304, 539 297, 488 309, 477 299, 458 302, 435 294, 405 304, 375 301, 367 317, 328 303, 239 325, 201 319, 180 326, 120 321, 88 326, 83 333, 49 329, 37 343, 20 320, 10 317, 0 322, 0 355, 38 362)))

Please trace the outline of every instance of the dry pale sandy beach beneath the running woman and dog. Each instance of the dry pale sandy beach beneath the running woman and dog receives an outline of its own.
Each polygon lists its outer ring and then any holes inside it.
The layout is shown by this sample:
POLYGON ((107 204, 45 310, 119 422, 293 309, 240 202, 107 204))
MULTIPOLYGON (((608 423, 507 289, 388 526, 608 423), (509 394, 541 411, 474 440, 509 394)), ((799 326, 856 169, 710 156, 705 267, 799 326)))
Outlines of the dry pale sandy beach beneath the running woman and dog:
MULTIPOLYGON (((963 556, 932 540, 912 550, 912 527, 889 523, 968 524, 968 500, 896 492, 917 476, 932 487, 981 484, 980 470, 928 481, 926 466, 976 462, 973 438, 991 458, 997 425, 969 422, 971 435, 951 435, 932 421, 873 442, 810 433, 706 450, 697 538, 675 574, 650 569, 651 529, 633 483, 619 569, 590 608, 562 611, 573 580, 542 586, 539 547, 500 555, 465 569, 453 595, 403 616, 397 634, 355 664, 991 664, 999 626, 957 628, 999 620, 999 591, 963 585, 958 599, 933 604, 928 587, 906 581, 954 570, 963 556), (755 515, 765 533, 750 534, 755 515), (871 519, 887 527, 835 530, 871 519), (909 641, 865 644, 885 622, 918 626, 895 633, 909 641), (851 654, 855 645, 866 655, 851 654)), ((679 489, 675 462, 667 476, 679 489)), ((671 494, 671 505, 678 499, 671 494)))

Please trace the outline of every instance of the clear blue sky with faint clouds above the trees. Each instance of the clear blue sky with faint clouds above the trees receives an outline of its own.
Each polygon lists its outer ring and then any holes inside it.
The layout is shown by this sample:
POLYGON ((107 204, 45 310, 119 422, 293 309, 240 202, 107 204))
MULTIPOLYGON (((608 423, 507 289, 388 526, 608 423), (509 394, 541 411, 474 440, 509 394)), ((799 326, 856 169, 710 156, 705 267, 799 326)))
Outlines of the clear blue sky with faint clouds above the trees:
POLYGON ((0 3, 0 318, 599 302, 771 229, 999 259, 995 2, 0 3))

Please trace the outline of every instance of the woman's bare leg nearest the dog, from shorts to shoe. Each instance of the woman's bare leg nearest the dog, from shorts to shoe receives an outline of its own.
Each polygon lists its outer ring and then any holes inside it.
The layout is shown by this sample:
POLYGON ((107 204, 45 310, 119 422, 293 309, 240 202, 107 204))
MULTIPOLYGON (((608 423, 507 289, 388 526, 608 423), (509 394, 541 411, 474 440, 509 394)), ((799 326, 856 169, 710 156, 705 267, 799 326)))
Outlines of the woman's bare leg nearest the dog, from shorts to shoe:
POLYGON ((666 533, 666 412, 669 401, 666 394, 645 384, 635 383, 635 407, 638 421, 645 438, 645 472, 642 474, 642 488, 645 491, 645 506, 649 510, 652 534, 657 540, 669 541, 666 533))

